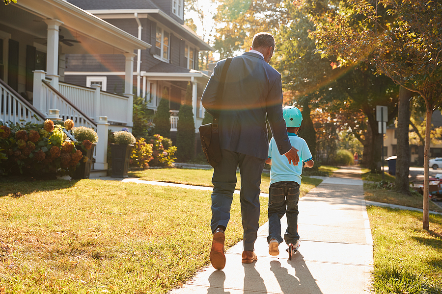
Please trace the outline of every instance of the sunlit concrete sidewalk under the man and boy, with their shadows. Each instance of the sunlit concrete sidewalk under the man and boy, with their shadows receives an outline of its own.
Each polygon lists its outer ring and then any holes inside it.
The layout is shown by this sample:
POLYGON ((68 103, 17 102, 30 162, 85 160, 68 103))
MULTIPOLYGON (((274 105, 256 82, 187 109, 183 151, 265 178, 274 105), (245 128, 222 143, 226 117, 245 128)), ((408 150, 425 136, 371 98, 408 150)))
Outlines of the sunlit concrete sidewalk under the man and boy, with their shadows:
MULTIPOLYGON (((227 250, 223 270, 208 266, 171 294, 366 293, 373 241, 360 170, 341 169, 333 175, 300 199, 301 247, 291 261, 285 244, 279 245, 278 256, 269 255, 266 223, 259 228, 255 243, 257 262, 241 263, 240 242, 227 250)), ((285 217, 281 222, 284 231, 285 217)))

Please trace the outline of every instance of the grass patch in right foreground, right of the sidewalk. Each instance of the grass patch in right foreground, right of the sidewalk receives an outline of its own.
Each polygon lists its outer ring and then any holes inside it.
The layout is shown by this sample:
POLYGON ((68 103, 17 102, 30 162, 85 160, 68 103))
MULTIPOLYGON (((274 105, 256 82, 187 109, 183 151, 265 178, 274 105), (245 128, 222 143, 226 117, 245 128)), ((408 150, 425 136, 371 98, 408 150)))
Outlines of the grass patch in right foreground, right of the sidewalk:
POLYGON ((374 293, 442 293, 442 216, 367 207, 374 241, 374 293))

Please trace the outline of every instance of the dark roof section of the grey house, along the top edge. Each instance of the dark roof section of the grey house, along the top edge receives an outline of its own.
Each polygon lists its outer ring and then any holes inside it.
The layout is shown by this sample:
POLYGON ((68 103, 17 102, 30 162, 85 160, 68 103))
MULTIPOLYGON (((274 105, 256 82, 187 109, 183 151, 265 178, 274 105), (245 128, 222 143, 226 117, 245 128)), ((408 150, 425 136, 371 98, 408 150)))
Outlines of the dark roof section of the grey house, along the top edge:
POLYGON ((68 0, 84 10, 95 9, 159 9, 151 0, 68 0))

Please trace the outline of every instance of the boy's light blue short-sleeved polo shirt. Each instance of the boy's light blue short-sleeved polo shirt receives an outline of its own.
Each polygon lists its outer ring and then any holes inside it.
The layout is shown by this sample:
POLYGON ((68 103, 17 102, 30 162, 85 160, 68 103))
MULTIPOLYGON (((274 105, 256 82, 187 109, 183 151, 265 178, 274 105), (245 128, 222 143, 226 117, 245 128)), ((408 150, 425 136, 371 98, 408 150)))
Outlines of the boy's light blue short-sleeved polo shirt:
POLYGON ((270 168, 270 184, 282 181, 293 181, 301 185, 301 174, 303 173, 303 161, 312 159, 310 149, 303 138, 294 133, 288 133, 290 143, 298 149, 299 163, 297 166, 289 164, 285 155, 279 154, 275 139, 272 138, 269 143, 269 158, 272 159, 270 168))

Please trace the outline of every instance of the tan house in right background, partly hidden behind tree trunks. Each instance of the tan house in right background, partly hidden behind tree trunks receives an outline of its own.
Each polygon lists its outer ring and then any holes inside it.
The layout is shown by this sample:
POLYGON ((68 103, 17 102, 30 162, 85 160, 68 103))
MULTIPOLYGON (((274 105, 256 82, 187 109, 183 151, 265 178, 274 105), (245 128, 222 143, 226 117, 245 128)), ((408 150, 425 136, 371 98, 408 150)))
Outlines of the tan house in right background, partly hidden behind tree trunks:
MULTIPOLYGON (((431 123, 434 127, 442 127, 442 115, 440 110, 433 113, 431 123)), ((440 138, 442 139, 442 138, 440 138)), ((387 127, 384 135, 384 155, 385 158, 396 155, 397 138, 394 124, 387 127)), ((442 144, 430 144, 430 158, 442 157, 442 144)), ((410 145, 410 163, 417 166, 423 166, 424 146, 410 145)))

